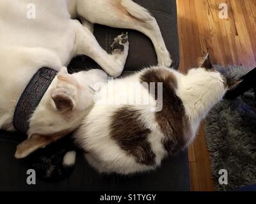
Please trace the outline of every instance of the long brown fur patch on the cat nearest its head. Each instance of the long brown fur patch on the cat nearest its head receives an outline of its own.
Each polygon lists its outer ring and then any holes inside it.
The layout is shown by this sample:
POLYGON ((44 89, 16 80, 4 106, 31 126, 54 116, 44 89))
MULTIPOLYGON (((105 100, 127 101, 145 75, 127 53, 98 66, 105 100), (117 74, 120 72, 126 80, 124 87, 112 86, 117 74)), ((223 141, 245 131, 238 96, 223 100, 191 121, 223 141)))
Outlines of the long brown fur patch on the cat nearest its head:
MULTIPOLYGON (((163 146, 169 154, 186 147, 190 126, 181 99, 175 93, 177 79, 167 69, 148 69, 141 76, 141 83, 163 83, 163 109, 155 113, 155 119, 165 138, 163 146)), ((155 86, 157 96, 157 85, 155 86)))

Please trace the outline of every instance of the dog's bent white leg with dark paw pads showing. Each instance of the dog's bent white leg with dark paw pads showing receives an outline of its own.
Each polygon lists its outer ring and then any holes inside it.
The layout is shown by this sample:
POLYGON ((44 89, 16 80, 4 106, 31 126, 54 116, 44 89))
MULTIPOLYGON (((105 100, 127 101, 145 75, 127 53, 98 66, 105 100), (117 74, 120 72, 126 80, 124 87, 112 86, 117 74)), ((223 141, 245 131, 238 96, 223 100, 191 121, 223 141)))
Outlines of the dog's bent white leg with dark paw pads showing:
POLYGON ((112 47, 112 53, 108 54, 100 47, 95 36, 77 20, 74 21, 76 29, 76 50, 74 55, 87 55, 97 62, 104 71, 113 77, 118 77, 124 70, 127 59, 129 42, 127 34, 118 36, 112 47))

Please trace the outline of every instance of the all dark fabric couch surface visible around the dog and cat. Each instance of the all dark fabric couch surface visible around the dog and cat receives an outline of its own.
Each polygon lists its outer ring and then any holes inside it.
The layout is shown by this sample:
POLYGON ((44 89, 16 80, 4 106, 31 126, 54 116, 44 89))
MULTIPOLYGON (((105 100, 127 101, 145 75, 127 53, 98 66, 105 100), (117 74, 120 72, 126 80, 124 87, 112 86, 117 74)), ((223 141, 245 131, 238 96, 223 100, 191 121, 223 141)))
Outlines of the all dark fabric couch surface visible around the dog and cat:
MULTIPOLYGON (((179 66, 179 40, 177 35, 177 16, 175 0, 134 0, 148 8, 163 33, 164 41, 172 54, 173 68, 179 66)), ((122 29, 95 25, 95 36, 100 45, 110 50, 115 36, 122 29)), ((137 31, 129 31, 130 51, 125 71, 157 64, 151 41, 137 31)), ((70 71, 98 68, 88 57, 77 57, 70 63, 70 71)), ((51 183, 36 179, 36 185, 26 183, 28 166, 23 160, 14 157, 19 143, 19 133, 0 131, 0 191, 189 191, 188 152, 166 159, 161 168, 150 173, 120 177, 118 175, 99 175, 78 154, 74 172, 61 182, 51 183), (15 142, 16 141, 16 142, 15 142)))

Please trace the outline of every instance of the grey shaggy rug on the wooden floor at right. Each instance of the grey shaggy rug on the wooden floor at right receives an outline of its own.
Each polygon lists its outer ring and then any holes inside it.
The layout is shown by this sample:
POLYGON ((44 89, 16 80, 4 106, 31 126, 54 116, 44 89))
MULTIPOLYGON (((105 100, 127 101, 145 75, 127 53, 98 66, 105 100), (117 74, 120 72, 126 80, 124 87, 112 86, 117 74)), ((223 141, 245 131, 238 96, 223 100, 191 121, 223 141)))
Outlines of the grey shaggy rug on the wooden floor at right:
MULTIPOLYGON (((240 77, 250 70, 232 67, 229 71, 240 77)), ((216 191, 256 184, 256 102, 252 91, 234 100, 224 99, 212 108, 205 119, 205 140, 216 191), (222 169, 228 171, 227 185, 219 184, 222 169)))

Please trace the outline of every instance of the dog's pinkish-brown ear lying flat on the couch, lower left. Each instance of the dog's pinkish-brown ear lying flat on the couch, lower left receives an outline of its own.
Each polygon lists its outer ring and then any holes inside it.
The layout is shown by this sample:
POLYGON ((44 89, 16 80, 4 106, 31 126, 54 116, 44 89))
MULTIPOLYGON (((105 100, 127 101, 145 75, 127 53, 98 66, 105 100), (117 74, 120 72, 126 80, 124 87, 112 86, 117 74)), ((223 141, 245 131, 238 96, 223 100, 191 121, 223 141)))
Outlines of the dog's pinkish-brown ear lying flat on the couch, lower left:
POLYGON ((27 140, 25 140, 24 142, 20 143, 17 146, 15 158, 22 159, 24 157, 27 157, 32 152, 35 152, 35 150, 44 148, 45 146, 49 145, 49 143, 52 142, 53 140, 50 137, 37 134, 32 135, 30 138, 28 138, 27 140))

